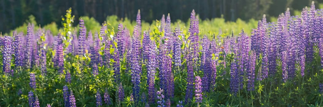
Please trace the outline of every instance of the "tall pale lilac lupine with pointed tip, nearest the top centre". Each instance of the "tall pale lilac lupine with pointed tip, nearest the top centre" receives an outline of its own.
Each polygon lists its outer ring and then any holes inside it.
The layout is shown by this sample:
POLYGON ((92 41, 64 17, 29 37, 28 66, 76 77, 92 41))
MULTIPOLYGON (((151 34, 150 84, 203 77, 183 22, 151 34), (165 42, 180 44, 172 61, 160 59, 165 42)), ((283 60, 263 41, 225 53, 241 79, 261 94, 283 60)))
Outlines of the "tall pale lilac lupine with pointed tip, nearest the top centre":
POLYGON ((166 26, 165 26, 165 46, 168 52, 171 51, 172 48, 172 36, 171 36, 171 17, 169 16, 169 13, 166 18, 166 26))

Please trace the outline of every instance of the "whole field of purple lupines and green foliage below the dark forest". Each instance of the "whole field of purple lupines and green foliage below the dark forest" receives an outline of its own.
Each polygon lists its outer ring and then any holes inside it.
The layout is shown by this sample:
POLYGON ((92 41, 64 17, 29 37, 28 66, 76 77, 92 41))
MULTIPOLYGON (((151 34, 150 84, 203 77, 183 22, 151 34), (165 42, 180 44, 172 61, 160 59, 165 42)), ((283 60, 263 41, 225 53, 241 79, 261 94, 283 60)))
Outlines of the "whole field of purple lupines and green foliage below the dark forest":
POLYGON ((323 106, 323 10, 314 2, 276 22, 197 14, 147 23, 139 10, 135 22, 100 25, 68 9, 59 27, 31 16, 0 37, 0 106, 323 106))

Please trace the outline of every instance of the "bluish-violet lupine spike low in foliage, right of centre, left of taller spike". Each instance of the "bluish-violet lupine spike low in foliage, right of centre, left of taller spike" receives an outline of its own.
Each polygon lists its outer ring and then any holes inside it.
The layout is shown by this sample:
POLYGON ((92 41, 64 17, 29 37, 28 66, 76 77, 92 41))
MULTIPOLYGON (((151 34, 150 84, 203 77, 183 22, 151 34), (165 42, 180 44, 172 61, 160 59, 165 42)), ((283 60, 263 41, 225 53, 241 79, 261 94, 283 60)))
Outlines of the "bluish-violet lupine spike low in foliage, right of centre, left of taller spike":
POLYGON ((231 79, 230 79, 230 89, 233 95, 236 95, 239 90, 239 71, 236 62, 231 63, 231 79))

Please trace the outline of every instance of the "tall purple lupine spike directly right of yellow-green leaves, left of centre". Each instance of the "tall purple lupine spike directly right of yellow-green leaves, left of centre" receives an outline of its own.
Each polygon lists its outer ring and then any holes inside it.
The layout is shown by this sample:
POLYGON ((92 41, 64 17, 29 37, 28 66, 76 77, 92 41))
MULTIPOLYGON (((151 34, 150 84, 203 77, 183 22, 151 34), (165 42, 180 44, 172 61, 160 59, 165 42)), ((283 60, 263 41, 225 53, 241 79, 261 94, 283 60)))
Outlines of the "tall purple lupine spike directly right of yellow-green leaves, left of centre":
POLYGON ((118 39, 118 50, 119 50, 119 55, 120 55, 120 58, 123 58, 123 53, 125 51, 124 49, 124 45, 123 45, 123 42, 124 42, 124 29, 123 29, 123 25, 121 23, 119 23, 119 26, 118 26, 118 33, 117 33, 117 39, 118 39))

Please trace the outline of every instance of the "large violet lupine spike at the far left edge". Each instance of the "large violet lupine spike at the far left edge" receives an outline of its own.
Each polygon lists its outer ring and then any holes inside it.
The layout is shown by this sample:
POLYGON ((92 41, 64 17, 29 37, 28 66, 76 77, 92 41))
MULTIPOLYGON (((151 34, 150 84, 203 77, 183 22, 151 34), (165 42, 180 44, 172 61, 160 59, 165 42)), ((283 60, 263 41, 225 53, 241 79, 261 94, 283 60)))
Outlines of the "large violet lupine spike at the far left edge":
POLYGON ((12 38, 10 36, 5 36, 4 38, 4 50, 2 51, 3 55, 3 71, 5 73, 10 74, 10 66, 11 66, 11 59, 12 59, 12 53, 13 53, 13 47, 12 47, 12 38))

